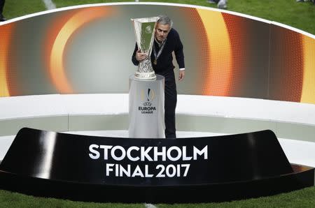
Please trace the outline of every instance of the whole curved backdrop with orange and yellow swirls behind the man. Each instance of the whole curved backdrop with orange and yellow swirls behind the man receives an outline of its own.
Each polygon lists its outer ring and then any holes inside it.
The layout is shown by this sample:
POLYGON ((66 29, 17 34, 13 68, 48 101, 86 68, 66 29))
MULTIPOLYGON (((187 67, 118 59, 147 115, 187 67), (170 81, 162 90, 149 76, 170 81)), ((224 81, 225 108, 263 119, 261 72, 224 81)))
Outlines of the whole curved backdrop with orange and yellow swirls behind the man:
POLYGON ((160 13, 174 20, 184 45, 180 94, 315 103, 314 36, 162 4, 73 8, 0 25, 0 96, 127 93, 137 69, 130 18, 160 13))

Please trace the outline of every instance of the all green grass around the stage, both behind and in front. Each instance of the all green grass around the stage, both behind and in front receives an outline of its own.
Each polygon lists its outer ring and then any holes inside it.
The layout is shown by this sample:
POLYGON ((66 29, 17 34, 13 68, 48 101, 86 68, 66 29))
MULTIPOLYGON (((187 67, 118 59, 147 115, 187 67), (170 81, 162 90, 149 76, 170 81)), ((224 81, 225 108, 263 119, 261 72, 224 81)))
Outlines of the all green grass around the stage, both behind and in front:
MULTIPOLYGON (((58 8, 85 3, 118 2, 99 0, 53 0, 58 8)), ((131 1, 131 0, 130 0, 131 1)), ((145 1, 145 0, 143 0, 145 1)), ((154 0, 149 0, 154 1, 154 0)), ((119 1, 122 2, 122 1, 119 1)), ((215 7, 206 0, 168 0, 160 2, 187 3, 215 7)), ((45 10, 41 0, 7 0, 3 15, 9 19, 45 10)), ((295 0, 230 0, 228 10, 245 13, 266 20, 281 22, 315 34, 315 6, 311 3, 296 3, 295 0)), ((265 198, 239 200, 235 202, 156 205, 158 207, 315 207, 315 187, 283 193, 265 198)), ((20 193, 0 190, 0 207, 144 207, 144 204, 111 204, 72 202, 53 198, 36 198, 20 193)))

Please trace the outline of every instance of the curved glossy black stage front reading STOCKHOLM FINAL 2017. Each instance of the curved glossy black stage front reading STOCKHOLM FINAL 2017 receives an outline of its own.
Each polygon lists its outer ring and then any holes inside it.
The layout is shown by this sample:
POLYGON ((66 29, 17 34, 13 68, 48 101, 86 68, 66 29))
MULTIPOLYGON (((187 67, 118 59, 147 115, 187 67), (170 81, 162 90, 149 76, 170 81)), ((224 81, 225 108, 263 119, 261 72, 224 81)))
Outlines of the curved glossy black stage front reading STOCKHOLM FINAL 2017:
POLYGON ((132 139, 22 128, 0 164, 0 188, 97 202, 218 202, 314 185, 272 131, 132 139))

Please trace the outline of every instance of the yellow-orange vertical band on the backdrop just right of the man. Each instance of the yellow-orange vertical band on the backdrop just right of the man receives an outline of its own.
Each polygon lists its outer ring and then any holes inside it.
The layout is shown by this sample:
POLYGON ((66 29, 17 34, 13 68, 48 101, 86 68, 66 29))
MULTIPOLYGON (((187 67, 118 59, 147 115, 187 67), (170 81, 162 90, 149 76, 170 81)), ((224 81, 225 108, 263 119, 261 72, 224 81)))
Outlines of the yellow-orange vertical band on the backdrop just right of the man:
POLYGON ((218 12, 197 9, 209 43, 207 73, 204 75, 202 94, 212 96, 229 96, 232 78, 232 50, 230 37, 223 16, 218 12))

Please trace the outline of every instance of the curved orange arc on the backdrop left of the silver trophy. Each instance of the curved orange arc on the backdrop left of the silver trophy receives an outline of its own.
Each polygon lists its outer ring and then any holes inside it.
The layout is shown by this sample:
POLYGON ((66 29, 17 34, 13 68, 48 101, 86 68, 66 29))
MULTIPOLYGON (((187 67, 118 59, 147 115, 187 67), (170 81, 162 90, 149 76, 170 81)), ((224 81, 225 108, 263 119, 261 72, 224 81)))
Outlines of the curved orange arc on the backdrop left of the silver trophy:
POLYGON ((48 35, 45 54, 50 78, 59 93, 71 94, 74 92, 66 77, 66 68, 64 68, 64 52, 71 36, 88 22, 106 17, 110 13, 110 7, 83 8, 70 11, 54 20, 52 26, 54 31, 48 35))

